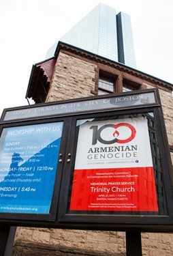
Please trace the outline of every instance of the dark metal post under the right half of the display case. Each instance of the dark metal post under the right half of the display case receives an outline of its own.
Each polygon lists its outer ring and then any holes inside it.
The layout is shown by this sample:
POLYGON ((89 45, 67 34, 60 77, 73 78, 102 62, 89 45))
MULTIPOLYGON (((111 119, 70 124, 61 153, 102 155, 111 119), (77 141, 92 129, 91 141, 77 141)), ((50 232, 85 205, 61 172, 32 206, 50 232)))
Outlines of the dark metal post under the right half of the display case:
POLYGON ((137 231, 126 232, 126 255, 142 256, 141 233, 137 231))

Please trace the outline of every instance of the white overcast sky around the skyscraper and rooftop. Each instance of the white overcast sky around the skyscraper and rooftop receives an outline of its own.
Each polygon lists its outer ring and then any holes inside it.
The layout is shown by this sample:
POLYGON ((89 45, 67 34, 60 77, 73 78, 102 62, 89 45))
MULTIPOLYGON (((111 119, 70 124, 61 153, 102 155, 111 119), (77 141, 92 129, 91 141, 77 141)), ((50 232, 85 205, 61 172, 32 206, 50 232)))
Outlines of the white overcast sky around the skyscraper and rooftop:
POLYGON ((28 104, 33 64, 100 2, 130 15, 137 69, 173 83, 172 0, 0 0, 0 115, 28 104))

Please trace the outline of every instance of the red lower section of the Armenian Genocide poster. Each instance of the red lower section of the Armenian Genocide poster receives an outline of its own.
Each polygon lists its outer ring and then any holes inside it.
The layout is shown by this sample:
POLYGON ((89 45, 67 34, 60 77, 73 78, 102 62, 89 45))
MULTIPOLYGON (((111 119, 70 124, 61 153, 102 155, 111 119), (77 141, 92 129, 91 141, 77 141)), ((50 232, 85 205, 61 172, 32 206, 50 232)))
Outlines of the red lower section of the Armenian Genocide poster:
POLYGON ((158 212, 153 167, 75 170, 69 210, 158 212))

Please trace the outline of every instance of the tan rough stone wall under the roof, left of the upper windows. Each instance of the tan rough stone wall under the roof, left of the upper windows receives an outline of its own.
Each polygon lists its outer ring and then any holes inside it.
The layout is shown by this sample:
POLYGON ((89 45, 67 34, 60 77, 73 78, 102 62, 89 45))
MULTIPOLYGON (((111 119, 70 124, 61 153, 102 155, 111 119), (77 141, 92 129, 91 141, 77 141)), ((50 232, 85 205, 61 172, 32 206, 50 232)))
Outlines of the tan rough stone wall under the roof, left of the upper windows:
POLYGON ((46 102, 92 96, 95 67, 87 61, 60 53, 46 102))

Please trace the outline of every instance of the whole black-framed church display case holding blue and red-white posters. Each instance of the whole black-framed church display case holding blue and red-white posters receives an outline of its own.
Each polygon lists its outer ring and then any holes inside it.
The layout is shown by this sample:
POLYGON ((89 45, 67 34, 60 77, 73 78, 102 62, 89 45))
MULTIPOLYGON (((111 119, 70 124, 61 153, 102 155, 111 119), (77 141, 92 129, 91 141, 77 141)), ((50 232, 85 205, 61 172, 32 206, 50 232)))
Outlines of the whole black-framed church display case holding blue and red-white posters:
POLYGON ((5 109, 5 225, 172 231, 172 165, 158 89, 5 109))

